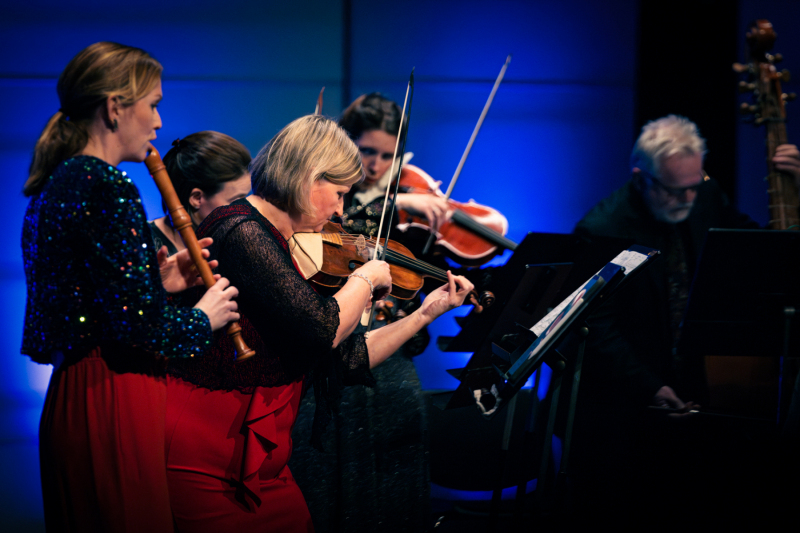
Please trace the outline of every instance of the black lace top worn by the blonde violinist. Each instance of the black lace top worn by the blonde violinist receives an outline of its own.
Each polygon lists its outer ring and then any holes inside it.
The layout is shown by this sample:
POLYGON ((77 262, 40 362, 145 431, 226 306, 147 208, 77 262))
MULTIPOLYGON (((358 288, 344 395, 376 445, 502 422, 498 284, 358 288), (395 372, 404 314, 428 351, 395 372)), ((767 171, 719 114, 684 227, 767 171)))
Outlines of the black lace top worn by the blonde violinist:
POLYGON ((212 212, 197 232, 213 237, 217 272, 239 289, 239 325, 257 354, 234 362, 227 334, 217 332, 210 353, 174 361, 168 372, 215 390, 252 392, 257 386, 286 385, 314 373, 316 394, 328 399, 344 385, 371 384, 363 335, 351 335, 335 349, 339 305, 320 296, 295 268, 288 244, 247 200, 212 212), (319 390, 317 390, 319 389, 319 390))

